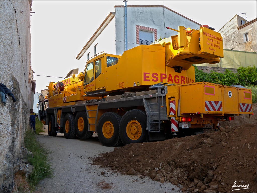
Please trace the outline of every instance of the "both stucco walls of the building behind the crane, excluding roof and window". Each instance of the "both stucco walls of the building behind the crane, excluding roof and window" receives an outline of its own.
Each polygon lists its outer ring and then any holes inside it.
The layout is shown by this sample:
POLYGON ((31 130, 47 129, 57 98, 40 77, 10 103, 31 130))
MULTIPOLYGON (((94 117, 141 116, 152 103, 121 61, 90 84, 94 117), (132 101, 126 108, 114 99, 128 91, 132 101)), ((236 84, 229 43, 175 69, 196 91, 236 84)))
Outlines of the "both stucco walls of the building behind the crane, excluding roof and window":
MULTIPOLYGON (((112 10, 110 10, 112 11, 112 10)), ((123 54, 125 50, 125 27, 124 27, 124 6, 115 6, 115 17, 107 25, 104 31, 97 37, 92 45, 86 50, 81 57, 87 60, 94 55, 94 47, 97 44, 97 52, 107 52, 109 54, 123 54)), ((97 21, 97 29, 102 21, 97 21), (97 24, 98 23, 98 24, 97 24)), ((196 21, 197 22, 197 21, 196 21)), ((168 30, 166 27, 178 29, 178 26, 190 27, 192 29, 199 28, 199 24, 186 19, 185 17, 161 7, 127 7, 127 49, 139 46, 136 44, 136 25, 157 29, 157 38, 170 37, 177 35, 178 32, 168 30)), ((88 34, 88 37, 91 37, 88 34)), ((93 34, 92 34, 93 35, 93 34)))

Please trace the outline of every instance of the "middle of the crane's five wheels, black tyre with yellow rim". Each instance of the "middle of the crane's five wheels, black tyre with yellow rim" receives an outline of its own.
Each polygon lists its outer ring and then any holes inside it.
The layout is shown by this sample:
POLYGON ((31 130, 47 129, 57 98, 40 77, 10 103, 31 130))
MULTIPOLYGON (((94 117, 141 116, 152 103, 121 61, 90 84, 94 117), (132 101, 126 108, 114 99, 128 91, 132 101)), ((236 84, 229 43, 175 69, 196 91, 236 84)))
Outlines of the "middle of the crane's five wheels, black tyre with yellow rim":
POLYGON ((84 111, 77 112, 75 116, 75 131, 80 139, 87 139, 93 135, 93 131, 88 131, 87 114, 84 111))

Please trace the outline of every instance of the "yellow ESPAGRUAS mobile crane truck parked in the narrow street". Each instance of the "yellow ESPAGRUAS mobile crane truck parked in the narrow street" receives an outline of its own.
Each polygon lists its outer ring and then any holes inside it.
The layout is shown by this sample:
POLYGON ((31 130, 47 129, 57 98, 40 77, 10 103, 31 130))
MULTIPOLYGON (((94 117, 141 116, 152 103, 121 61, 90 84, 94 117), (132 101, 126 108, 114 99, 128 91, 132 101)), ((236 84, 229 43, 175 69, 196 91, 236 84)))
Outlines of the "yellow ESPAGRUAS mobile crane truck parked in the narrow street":
POLYGON ((250 117, 251 90, 195 83, 193 64, 223 57, 221 35, 208 25, 175 31, 122 55, 99 53, 83 73, 50 82, 48 99, 39 103, 49 136, 86 139, 95 132, 103 145, 118 146, 197 134, 240 114, 250 117))

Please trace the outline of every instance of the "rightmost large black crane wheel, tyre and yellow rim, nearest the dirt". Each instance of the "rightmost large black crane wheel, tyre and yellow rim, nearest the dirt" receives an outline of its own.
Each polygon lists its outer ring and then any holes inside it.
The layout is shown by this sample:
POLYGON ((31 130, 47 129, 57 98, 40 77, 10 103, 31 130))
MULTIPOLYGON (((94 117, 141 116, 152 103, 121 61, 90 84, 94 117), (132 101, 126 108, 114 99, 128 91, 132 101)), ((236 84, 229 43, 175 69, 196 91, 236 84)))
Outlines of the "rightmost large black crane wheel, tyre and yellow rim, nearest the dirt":
POLYGON ((127 111, 120 124, 120 136, 124 145, 146 142, 146 114, 139 109, 127 111))

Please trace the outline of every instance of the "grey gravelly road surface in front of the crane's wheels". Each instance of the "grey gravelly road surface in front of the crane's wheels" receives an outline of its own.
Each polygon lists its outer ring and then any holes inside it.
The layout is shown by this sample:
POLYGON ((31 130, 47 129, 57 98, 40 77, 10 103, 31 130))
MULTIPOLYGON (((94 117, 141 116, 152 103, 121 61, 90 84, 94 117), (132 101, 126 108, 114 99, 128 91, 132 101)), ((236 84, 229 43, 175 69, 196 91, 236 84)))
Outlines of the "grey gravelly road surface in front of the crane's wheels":
POLYGON ((37 138, 50 150, 54 169, 53 178, 39 182, 38 192, 182 192, 171 183, 162 184, 150 177, 123 175, 111 168, 91 165, 92 158, 100 153, 114 151, 114 147, 103 146, 97 134, 85 140, 65 139, 60 133, 57 137, 40 133, 37 138))

